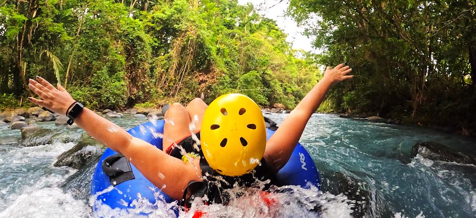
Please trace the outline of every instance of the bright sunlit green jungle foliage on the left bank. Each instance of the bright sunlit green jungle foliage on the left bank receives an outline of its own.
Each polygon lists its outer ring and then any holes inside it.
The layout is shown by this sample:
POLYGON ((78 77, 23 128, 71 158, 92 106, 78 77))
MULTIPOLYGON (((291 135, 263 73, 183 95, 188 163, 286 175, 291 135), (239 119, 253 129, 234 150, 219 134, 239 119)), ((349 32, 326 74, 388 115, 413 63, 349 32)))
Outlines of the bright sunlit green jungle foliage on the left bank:
POLYGON ((320 73, 275 21, 237 0, 2 1, 5 102, 31 95, 28 78, 37 75, 92 108, 230 92, 293 108, 320 73))

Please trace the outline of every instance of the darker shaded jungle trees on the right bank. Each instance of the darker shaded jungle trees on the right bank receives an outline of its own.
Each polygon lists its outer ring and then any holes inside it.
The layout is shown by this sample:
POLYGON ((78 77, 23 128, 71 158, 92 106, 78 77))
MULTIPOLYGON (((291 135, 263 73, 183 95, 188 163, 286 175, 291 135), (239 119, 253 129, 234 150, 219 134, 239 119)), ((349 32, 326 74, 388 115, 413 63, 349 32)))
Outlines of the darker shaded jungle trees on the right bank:
POLYGON ((318 62, 356 75, 337 110, 476 129, 475 0, 290 0, 318 62))

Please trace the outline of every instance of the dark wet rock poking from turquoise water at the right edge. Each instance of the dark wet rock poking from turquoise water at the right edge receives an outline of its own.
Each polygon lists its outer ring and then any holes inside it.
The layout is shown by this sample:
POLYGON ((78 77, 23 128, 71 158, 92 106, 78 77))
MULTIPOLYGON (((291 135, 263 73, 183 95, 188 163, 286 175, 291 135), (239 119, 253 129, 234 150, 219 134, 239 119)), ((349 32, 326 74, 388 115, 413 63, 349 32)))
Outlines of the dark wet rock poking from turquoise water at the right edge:
POLYGON ((412 148, 412 157, 417 154, 433 161, 476 164, 476 157, 463 154, 437 142, 419 142, 412 148))

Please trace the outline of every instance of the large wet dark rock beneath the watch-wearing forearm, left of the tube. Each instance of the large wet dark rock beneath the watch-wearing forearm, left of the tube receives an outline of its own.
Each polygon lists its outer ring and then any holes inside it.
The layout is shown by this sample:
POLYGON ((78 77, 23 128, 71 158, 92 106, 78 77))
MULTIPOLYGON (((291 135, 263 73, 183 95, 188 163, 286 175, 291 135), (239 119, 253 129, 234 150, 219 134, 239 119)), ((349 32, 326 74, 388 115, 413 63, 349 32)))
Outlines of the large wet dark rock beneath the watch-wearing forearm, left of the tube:
POLYGON ((74 147, 58 157, 54 166, 70 166, 79 169, 90 160, 98 158, 104 149, 103 144, 88 134, 84 134, 74 147))

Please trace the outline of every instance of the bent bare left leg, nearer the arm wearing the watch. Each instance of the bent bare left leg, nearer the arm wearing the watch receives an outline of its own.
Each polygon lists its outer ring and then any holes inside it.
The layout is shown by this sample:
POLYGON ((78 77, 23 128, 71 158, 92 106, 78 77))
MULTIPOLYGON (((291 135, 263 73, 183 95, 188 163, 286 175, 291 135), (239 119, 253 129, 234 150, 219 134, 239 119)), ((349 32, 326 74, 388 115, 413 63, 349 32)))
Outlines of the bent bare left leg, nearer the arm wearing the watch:
POLYGON ((190 116, 180 103, 174 103, 165 112, 164 119, 166 122, 162 138, 162 150, 167 151, 173 143, 190 135, 190 130, 188 130, 190 116))

